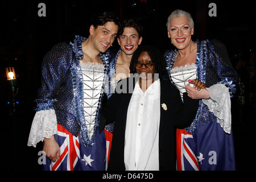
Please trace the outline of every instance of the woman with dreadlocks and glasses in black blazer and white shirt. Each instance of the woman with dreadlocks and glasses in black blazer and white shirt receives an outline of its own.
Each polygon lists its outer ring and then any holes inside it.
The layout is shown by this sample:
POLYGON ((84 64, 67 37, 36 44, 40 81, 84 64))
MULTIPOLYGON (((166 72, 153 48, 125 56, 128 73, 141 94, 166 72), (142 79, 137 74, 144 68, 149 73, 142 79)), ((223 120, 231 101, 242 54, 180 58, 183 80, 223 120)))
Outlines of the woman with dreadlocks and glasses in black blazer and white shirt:
MULTIPOLYGON (((159 49, 139 47, 122 79, 102 107, 101 121, 114 123, 108 170, 175 170, 174 129, 191 124, 199 101, 165 81, 159 49), (188 109, 189 108, 189 109, 188 109)), ((189 86, 189 85, 188 85, 189 86)))

